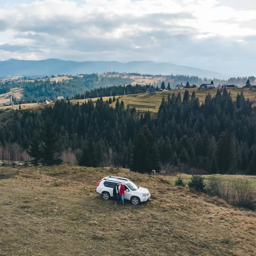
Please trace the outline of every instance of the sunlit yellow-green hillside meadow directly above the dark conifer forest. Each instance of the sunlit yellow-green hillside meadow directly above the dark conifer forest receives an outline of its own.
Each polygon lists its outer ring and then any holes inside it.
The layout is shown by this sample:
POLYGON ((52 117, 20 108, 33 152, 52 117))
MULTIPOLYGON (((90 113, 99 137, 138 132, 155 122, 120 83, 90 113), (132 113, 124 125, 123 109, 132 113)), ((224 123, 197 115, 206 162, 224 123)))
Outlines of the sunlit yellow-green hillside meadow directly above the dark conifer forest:
MULTIPOLYGON (((209 90, 198 90, 198 88, 191 88, 188 89, 190 95, 193 91, 195 91, 196 96, 199 97, 200 102, 204 102, 204 99, 208 93, 210 93, 212 96, 215 96, 217 92, 217 88, 215 89, 209 89, 209 90)), ((172 93, 181 93, 183 96, 185 90, 171 90, 171 91, 165 91, 165 92, 158 92, 157 94, 151 94, 151 93, 141 93, 141 94, 133 94, 133 95, 126 95, 122 96, 120 100, 123 100, 125 103, 125 106, 128 104, 131 107, 136 107, 137 110, 140 111, 150 111, 152 113, 157 113, 158 109, 160 107, 161 101, 163 96, 168 97, 169 93, 172 95, 172 93), (144 105, 144 106, 143 106, 144 105)), ((237 89, 228 89, 228 92, 231 93, 232 98, 235 100, 237 93, 241 93, 243 91, 244 97, 247 99, 249 98, 251 102, 256 103, 256 91, 251 91, 249 89, 244 88, 237 88, 237 89)), ((112 103, 113 107, 115 106, 115 102, 112 103)))

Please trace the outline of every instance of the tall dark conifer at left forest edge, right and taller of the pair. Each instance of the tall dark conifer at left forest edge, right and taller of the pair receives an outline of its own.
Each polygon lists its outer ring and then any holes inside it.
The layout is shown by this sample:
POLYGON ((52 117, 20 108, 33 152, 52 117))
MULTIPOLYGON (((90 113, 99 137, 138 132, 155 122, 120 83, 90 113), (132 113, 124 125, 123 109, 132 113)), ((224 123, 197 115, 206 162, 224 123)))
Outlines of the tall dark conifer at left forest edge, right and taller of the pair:
POLYGON ((45 127, 45 135, 44 135, 44 145, 43 149, 43 163, 46 165, 55 165, 61 164, 61 154, 60 154, 60 143, 58 137, 56 137, 54 129, 52 128, 52 124, 48 119, 45 127))

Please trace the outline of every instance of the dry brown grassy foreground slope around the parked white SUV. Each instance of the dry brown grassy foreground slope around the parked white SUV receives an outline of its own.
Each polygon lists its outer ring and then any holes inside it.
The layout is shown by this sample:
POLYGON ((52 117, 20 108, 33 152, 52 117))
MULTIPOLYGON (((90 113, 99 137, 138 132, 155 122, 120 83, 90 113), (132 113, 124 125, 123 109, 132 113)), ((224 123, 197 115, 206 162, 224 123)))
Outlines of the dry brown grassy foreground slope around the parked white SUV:
POLYGON ((19 169, 16 177, 0 180, 0 194, 1 256, 240 256, 256 251, 253 212, 128 170, 19 169), (103 201, 95 188, 107 175, 145 186, 151 200, 138 207, 103 201))

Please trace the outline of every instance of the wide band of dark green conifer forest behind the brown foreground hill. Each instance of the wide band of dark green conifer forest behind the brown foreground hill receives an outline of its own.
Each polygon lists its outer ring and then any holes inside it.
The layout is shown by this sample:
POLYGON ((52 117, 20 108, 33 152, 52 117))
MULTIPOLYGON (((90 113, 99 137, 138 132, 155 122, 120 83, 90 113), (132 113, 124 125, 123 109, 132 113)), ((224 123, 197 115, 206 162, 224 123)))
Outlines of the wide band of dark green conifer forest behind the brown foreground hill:
POLYGON ((15 143, 21 152, 33 142, 34 148, 43 148, 47 122, 59 152, 69 152, 81 165, 143 173, 179 166, 209 174, 256 175, 256 109, 242 92, 233 101, 226 89, 218 90, 201 105, 195 92, 186 90, 183 98, 170 93, 154 119, 149 112, 125 109, 119 99, 116 108, 99 99, 82 105, 56 102, 40 113, 17 110, 12 128, 0 127, 1 146, 15 143))

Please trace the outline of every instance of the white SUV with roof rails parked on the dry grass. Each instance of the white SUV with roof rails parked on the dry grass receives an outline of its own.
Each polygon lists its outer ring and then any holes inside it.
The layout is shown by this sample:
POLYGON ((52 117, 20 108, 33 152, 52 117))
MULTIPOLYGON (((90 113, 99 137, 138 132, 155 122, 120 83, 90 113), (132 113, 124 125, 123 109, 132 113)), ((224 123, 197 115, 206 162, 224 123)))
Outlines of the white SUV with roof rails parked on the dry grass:
POLYGON ((131 180, 113 176, 108 176, 100 180, 97 184, 96 192, 100 194, 103 199, 109 200, 113 196, 113 188, 119 182, 125 186, 124 199, 131 201, 134 205, 148 201, 151 197, 148 189, 138 187, 132 183, 131 180))

